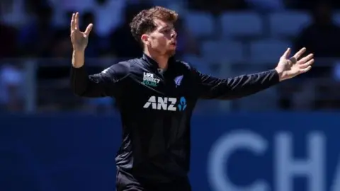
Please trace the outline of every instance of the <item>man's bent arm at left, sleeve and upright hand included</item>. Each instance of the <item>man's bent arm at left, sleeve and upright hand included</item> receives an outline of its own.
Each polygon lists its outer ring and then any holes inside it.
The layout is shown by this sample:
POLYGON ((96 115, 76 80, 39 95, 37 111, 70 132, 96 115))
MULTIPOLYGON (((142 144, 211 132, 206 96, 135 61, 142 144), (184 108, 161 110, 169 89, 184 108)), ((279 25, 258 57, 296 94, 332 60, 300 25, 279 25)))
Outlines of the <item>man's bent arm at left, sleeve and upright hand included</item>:
POLYGON ((71 86, 72 91, 83 97, 116 96, 120 81, 128 74, 128 63, 114 64, 100 74, 88 76, 84 68, 84 54, 89 33, 93 25, 89 24, 85 32, 79 30, 79 13, 72 14, 71 41, 73 46, 71 86))

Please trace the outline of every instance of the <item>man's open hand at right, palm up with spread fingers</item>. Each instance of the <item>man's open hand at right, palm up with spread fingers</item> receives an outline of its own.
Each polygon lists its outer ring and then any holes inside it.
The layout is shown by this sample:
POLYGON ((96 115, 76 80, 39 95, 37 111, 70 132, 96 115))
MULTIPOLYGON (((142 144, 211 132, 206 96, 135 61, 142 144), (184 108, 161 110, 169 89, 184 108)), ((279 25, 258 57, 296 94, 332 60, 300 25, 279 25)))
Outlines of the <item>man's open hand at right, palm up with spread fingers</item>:
POLYGON ((299 59, 303 53, 305 53, 306 48, 302 48, 293 57, 289 57, 290 48, 283 53, 276 66, 276 71, 280 76, 280 81, 291 79, 299 74, 310 71, 312 64, 314 63, 314 54, 308 54, 306 57, 299 59))

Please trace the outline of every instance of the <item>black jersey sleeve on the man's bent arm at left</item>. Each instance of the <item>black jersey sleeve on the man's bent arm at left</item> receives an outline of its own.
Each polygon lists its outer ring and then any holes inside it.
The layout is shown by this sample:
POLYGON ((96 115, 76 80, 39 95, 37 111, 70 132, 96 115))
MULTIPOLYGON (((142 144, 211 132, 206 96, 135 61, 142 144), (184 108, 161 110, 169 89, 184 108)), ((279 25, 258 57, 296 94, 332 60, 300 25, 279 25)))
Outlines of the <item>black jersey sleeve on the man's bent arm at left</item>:
POLYGON ((128 62, 120 62, 93 75, 88 75, 84 66, 72 67, 72 91, 77 96, 88 98, 115 97, 121 91, 122 81, 129 74, 129 66, 128 62))

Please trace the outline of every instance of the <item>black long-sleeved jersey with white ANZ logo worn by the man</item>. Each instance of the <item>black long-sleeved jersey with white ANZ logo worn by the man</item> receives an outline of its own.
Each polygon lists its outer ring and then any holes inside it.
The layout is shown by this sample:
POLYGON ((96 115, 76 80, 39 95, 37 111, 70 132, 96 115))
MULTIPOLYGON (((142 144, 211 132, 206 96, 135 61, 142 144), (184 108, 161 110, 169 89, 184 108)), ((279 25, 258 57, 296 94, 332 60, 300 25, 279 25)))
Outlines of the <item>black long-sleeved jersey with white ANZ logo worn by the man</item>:
POLYGON ((218 79, 174 58, 160 71, 147 55, 90 76, 84 66, 72 68, 71 78, 78 96, 115 98, 123 127, 118 170, 151 183, 188 174, 191 115, 199 98, 242 98, 279 82, 275 70, 218 79))

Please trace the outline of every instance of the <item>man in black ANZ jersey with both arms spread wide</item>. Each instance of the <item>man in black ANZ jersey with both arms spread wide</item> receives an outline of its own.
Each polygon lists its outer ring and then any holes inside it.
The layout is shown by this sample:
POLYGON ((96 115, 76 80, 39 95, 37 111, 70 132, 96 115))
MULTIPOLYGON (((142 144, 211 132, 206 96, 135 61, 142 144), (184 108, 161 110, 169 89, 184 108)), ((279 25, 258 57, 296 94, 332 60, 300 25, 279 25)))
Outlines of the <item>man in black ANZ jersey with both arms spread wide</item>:
POLYGON ((309 71, 313 54, 288 58, 288 49, 275 69, 258 74, 217 79, 174 59, 177 13, 156 6, 135 16, 132 35, 143 56, 113 64, 88 76, 84 51, 90 24, 79 31, 79 13, 72 16, 72 89, 78 96, 114 97, 123 126, 117 163, 117 190, 187 191, 190 161, 190 120, 198 98, 229 100, 249 96, 279 81, 309 71))

